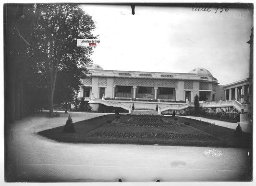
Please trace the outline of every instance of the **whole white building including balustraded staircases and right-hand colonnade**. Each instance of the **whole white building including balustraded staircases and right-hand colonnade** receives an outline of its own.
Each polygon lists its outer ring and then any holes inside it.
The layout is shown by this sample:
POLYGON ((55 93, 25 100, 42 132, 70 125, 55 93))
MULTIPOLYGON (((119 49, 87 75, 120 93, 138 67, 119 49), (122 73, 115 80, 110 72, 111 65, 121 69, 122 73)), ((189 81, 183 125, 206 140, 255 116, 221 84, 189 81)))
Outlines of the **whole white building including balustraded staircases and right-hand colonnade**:
POLYGON ((141 72, 104 70, 97 64, 89 66, 90 75, 83 79, 78 94, 89 101, 93 110, 98 104, 129 110, 156 109, 183 111, 194 107, 195 95, 202 107, 234 107, 249 112, 245 104, 249 95, 249 81, 244 79, 221 86, 217 78, 205 68, 194 68, 188 73, 141 72))

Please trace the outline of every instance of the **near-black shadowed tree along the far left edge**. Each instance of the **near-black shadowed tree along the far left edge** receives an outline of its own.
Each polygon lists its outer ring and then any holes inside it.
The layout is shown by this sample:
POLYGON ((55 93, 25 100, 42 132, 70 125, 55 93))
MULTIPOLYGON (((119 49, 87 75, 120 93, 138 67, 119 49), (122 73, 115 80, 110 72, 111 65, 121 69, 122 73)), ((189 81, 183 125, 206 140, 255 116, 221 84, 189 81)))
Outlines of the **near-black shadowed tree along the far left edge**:
POLYGON ((26 55, 37 19, 34 4, 4 5, 5 122, 26 114, 26 55))

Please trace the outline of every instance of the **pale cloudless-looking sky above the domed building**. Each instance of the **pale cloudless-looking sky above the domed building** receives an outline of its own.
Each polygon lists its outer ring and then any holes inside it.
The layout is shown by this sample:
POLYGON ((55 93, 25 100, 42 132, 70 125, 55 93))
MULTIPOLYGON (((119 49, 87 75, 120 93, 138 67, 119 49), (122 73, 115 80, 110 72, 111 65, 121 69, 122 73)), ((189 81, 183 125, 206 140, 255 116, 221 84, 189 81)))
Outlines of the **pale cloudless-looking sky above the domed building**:
POLYGON ((188 73, 203 67, 225 85, 249 77, 253 12, 83 5, 100 44, 91 59, 104 70, 188 73))

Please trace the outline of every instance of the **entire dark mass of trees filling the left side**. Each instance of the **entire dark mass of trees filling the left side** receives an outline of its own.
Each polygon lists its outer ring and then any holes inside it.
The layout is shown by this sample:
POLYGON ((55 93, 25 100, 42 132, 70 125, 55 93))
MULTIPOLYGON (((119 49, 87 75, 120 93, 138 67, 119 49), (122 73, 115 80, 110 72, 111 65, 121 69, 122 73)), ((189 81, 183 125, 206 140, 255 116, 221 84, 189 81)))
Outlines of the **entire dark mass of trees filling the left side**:
POLYGON ((76 4, 5 4, 5 121, 54 103, 70 103, 86 76, 95 24, 76 4))

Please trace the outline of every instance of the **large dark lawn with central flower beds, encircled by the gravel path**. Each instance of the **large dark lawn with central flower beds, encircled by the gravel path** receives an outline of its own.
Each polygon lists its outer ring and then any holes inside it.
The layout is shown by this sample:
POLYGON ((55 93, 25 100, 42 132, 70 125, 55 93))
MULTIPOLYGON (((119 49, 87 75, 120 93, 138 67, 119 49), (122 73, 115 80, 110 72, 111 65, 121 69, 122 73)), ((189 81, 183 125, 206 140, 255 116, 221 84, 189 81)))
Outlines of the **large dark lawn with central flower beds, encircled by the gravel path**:
MULTIPOLYGON (((74 123, 75 133, 63 126, 38 132, 59 142, 143 143, 248 147, 249 134, 235 138, 234 130, 203 121, 165 116, 105 115, 74 123), (111 122, 110 122, 111 121, 111 122), (184 123, 190 122, 190 125, 184 123)), ((64 124, 63 124, 64 125, 64 124)))

